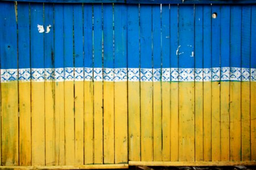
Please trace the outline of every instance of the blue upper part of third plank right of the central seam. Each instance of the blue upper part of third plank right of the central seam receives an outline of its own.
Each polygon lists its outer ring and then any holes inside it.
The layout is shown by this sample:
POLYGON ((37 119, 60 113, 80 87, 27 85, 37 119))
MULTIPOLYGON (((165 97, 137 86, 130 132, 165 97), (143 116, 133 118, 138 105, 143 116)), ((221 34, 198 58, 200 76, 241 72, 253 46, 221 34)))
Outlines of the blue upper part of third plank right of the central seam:
MULTIPOLYGON (((160 13, 160 5, 154 5, 152 7, 152 35, 153 35, 153 67, 155 69, 159 69, 159 68, 161 68, 161 63, 162 63, 161 62, 161 13, 160 13)), ((168 39, 170 40, 170 35, 169 35, 168 39)), ((168 49, 170 49, 170 48, 168 48, 168 49)), ((168 56, 168 58, 170 58, 170 56, 168 56)))

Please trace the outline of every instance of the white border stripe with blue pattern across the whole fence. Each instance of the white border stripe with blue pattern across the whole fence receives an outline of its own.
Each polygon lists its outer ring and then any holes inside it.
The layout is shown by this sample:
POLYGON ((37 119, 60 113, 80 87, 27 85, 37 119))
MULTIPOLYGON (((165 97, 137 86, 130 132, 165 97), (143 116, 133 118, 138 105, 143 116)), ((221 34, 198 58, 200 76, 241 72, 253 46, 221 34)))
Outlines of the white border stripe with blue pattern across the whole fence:
POLYGON ((256 69, 216 67, 207 69, 163 68, 47 68, 47 69, 1 69, 1 83, 44 81, 106 81, 106 82, 210 82, 220 80, 256 82, 256 69))

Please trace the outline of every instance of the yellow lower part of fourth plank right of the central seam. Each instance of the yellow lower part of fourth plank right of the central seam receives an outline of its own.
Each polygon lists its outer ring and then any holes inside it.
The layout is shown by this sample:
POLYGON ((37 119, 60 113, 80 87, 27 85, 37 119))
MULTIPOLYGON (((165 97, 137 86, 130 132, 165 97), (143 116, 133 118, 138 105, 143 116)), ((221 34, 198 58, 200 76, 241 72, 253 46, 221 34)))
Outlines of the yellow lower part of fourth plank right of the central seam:
MULTIPOLYGON (((154 82, 155 84, 155 82, 154 82)), ((171 160, 171 97, 170 82, 162 82, 162 126, 163 126, 163 161, 171 160)), ((155 133, 154 133, 155 135, 155 133)))

